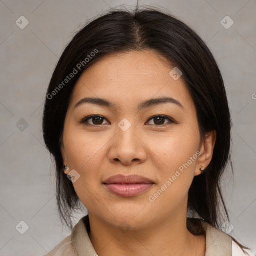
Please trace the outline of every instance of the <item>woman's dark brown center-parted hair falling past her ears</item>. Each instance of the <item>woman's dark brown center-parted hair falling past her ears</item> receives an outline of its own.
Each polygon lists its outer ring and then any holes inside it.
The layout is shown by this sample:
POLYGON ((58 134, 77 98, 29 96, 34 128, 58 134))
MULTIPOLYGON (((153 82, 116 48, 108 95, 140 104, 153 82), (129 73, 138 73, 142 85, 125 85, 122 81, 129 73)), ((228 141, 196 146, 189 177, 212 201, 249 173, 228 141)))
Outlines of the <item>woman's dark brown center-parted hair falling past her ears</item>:
POLYGON ((191 216, 198 216, 216 228, 229 220, 220 178, 228 162, 233 173, 231 117, 218 65, 203 40, 182 21, 155 8, 137 8, 133 12, 111 10, 83 26, 64 49, 48 86, 43 137, 55 160, 58 211, 62 223, 70 229, 72 211, 79 208, 80 202, 63 172, 60 144, 74 85, 81 73, 103 56, 145 49, 154 50, 182 71, 196 107, 201 139, 205 132, 216 130, 212 160, 203 174, 194 177, 189 188, 188 210, 191 216), (75 73, 72 78, 71 73, 75 73), (67 76, 70 79, 65 80, 67 76))

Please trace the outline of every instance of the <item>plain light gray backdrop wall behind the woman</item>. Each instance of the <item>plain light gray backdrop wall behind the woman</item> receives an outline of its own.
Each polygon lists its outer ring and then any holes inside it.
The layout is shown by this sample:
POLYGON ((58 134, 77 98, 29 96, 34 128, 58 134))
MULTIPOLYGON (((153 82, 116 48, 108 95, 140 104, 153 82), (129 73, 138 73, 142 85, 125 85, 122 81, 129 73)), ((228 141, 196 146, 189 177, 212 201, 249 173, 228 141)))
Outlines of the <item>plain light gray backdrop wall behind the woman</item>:
MULTIPOLYGON (((44 255, 69 235, 58 218, 54 169, 42 138, 44 96, 73 33, 120 4, 133 8, 136 1, 0 1, 0 255, 44 255), (29 21, 24 29, 15 23, 21 15, 29 21), (29 226, 24 234, 15 228, 21 220, 29 226)), ((235 178, 229 167, 222 181, 234 226, 230 234, 255 253, 256 0, 142 0, 139 5, 167 8, 194 28, 220 66, 234 123, 235 178), (226 15, 234 21, 229 29, 220 23, 226 15)), ((77 213, 74 223, 82 215, 77 213)))

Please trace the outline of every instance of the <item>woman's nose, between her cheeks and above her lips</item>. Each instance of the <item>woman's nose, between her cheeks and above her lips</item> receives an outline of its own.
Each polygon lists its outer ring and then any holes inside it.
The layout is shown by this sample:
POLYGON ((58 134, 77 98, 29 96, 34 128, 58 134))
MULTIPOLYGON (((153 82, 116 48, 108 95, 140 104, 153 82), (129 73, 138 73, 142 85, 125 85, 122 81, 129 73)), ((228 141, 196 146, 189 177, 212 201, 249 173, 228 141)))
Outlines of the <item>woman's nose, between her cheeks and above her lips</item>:
POLYGON ((108 158, 112 163, 121 162, 124 165, 139 164, 146 160, 147 146, 145 137, 135 125, 127 130, 116 127, 116 134, 111 139, 108 158))

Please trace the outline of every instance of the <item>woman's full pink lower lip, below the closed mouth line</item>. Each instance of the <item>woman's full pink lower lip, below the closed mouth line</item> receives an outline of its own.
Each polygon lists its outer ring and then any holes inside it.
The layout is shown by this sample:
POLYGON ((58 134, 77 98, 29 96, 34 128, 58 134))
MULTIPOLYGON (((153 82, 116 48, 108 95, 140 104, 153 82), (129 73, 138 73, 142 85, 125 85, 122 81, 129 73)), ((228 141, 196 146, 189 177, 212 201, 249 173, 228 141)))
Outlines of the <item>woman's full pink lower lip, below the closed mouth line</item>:
POLYGON ((134 184, 105 184, 105 186, 114 194, 120 196, 135 196, 148 190, 152 183, 134 183, 134 184))

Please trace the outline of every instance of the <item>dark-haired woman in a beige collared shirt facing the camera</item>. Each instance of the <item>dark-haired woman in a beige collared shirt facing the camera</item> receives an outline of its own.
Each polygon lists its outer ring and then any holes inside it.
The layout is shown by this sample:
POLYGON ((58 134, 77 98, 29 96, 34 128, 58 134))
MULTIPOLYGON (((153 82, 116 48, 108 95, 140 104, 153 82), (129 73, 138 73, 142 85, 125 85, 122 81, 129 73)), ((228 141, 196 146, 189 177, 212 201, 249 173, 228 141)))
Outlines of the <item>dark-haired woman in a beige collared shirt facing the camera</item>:
POLYGON ((219 185, 230 128, 219 68, 183 22, 137 9, 88 23, 44 106, 58 210, 72 230, 49 255, 246 255, 219 185), (72 227, 80 202, 88 215, 72 227))

